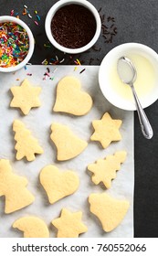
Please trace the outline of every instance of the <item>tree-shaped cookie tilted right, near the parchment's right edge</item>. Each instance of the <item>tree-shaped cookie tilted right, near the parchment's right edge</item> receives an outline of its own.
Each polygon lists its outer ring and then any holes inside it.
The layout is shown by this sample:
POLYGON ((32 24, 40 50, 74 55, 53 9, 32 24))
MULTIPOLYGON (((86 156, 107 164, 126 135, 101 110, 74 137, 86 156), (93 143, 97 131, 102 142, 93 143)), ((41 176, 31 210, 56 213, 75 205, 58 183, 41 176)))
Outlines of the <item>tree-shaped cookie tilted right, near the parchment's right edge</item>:
POLYGON ((94 184, 103 182, 105 187, 110 188, 111 180, 116 177, 116 171, 121 169, 126 155, 125 151, 119 151, 115 155, 108 155, 105 159, 99 159, 95 164, 88 165, 88 170, 93 173, 91 179, 94 184))

